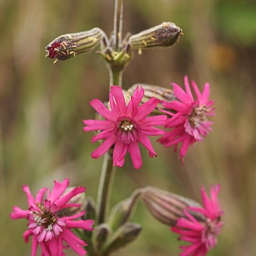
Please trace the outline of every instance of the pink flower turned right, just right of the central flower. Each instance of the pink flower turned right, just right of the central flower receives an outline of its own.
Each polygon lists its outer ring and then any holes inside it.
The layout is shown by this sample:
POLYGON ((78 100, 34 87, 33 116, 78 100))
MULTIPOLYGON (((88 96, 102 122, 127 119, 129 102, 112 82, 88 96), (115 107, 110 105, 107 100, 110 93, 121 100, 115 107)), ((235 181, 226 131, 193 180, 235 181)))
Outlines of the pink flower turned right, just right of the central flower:
POLYGON ((209 100, 210 84, 206 83, 201 93, 196 83, 191 82, 197 98, 195 100, 187 76, 184 77, 184 83, 186 92, 178 84, 172 84, 173 93, 179 101, 162 101, 165 108, 172 110, 172 112, 162 110, 165 114, 171 116, 167 119, 165 125, 166 128, 171 128, 171 131, 158 140, 165 147, 175 145, 174 151, 177 151, 178 143, 181 142, 180 158, 182 163, 188 147, 196 141, 203 141, 204 137, 212 131, 211 125, 213 122, 207 121, 207 117, 214 116, 214 108, 211 107, 213 101, 209 100))

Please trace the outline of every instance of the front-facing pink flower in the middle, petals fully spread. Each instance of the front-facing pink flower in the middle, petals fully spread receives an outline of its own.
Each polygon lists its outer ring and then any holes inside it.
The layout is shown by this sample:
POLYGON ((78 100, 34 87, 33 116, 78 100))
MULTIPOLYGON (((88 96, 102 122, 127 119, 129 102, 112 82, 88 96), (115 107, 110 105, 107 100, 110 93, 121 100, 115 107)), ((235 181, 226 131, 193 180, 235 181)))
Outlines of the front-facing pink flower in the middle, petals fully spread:
POLYGON ((132 158, 133 166, 139 169, 142 159, 139 149, 140 142, 149 151, 149 156, 157 156, 151 145, 148 135, 162 135, 165 131, 153 127, 153 125, 165 125, 167 116, 150 116, 146 118, 158 105, 159 100, 151 98, 139 107, 144 95, 144 90, 139 86, 134 91, 130 102, 126 105, 122 88, 111 86, 109 101, 111 110, 103 103, 94 99, 91 106, 106 120, 84 120, 84 131, 101 132, 92 138, 92 143, 97 140, 105 141, 91 154, 92 158, 98 158, 105 154, 115 144, 113 152, 113 165, 123 166, 127 151, 132 158))

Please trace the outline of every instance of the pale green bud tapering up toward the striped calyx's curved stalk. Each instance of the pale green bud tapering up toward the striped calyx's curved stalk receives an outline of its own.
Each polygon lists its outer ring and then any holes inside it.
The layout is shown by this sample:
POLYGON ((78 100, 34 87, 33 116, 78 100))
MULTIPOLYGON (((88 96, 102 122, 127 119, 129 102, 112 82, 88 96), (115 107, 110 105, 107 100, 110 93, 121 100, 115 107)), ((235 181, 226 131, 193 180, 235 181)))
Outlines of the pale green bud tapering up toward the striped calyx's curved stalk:
POLYGON ((130 198, 127 198, 114 206, 108 221, 109 226, 113 231, 117 230, 123 223, 129 220, 137 205, 140 194, 141 191, 137 190, 130 198))

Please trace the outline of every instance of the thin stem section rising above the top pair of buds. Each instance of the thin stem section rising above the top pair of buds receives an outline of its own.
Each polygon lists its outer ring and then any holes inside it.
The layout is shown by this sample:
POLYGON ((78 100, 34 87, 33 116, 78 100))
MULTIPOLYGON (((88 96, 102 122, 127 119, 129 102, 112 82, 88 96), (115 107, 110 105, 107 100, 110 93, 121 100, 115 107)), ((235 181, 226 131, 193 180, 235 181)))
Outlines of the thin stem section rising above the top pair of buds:
POLYGON ((123 27, 123 0, 115 0, 115 14, 114 14, 114 48, 118 51, 122 40, 123 27))

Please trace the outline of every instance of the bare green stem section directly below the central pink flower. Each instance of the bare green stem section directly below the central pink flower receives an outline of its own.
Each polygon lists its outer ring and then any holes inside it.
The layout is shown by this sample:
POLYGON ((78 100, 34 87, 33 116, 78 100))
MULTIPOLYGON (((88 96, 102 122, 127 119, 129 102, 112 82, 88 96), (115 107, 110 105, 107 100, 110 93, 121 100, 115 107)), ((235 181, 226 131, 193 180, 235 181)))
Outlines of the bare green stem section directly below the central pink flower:
POLYGON ((105 222, 109 210, 109 199, 111 187, 114 179, 115 167, 113 159, 109 153, 106 153, 103 160, 100 184, 98 190, 98 225, 105 222))

